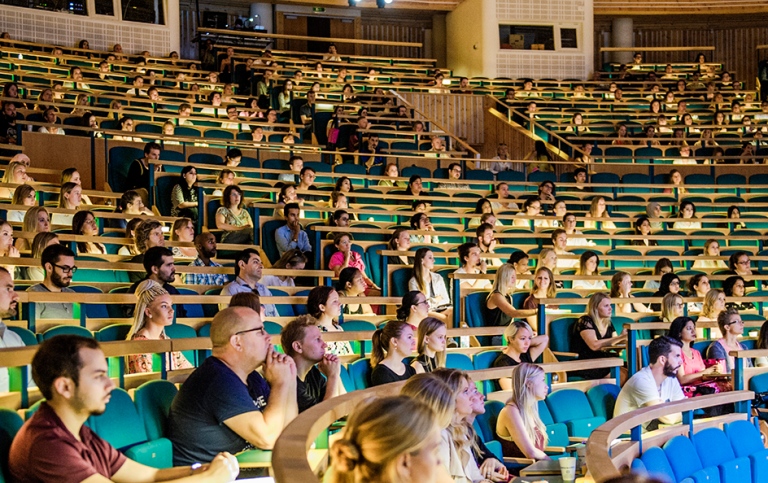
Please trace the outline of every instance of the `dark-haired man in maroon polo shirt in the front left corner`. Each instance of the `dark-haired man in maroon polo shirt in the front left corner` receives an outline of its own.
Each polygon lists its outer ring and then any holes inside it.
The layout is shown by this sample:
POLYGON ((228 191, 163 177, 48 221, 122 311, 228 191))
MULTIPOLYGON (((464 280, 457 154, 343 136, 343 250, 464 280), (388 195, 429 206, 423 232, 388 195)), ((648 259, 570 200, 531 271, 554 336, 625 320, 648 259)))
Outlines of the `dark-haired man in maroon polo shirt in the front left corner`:
POLYGON ((212 455, 210 465, 157 469, 125 457, 96 435, 85 421, 103 414, 115 384, 99 343, 59 335, 40 344, 32 377, 45 401, 21 427, 11 445, 12 481, 233 481, 238 463, 229 453, 212 455))

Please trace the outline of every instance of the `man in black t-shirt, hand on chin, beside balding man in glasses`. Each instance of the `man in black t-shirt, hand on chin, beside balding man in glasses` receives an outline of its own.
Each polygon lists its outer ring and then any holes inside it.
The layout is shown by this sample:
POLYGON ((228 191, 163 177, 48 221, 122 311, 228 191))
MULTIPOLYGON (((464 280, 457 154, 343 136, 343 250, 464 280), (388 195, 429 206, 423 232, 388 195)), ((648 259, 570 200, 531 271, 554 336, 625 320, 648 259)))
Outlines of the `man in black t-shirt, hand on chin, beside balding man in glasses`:
POLYGON ((327 345, 314 317, 302 315, 289 322, 280 332, 280 344, 296 363, 299 412, 344 394, 339 358, 325 353, 327 345))

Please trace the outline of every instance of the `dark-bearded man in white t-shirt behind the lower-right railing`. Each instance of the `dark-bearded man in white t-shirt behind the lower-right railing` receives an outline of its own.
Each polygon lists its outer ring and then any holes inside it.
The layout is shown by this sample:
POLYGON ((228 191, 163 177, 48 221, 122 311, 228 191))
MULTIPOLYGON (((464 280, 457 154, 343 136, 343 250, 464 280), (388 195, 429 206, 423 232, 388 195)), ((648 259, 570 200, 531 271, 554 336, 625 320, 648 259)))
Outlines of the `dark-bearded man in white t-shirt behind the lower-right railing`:
MULTIPOLYGON (((613 417, 648 406, 679 401, 685 398, 677 380, 677 370, 683 364, 683 344, 662 336, 648 345, 650 365, 632 376, 619 393, 613 417)), ((660 423, 677 424, 681 414, 670 414, 644 423, 646 431, 653 431, 660 423)))

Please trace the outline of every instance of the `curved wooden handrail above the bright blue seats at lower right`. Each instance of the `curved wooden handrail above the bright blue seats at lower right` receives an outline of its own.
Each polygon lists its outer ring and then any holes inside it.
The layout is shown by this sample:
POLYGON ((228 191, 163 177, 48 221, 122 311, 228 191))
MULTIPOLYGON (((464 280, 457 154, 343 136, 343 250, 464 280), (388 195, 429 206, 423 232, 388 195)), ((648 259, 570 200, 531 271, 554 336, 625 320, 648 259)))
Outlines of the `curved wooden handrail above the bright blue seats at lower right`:
MULTIPOLYGON (((611 444, 622 434, 647 421, 700 408, 749 401, 754 397, 755 393, 752 391, 730 391, 649 406, 616 416, 592 431, 587 440, 587 468, 589 473, 595 481, 606 481, 621 476, 622 468, 617 467, 610 456, 611 444)), ((746 418, 746 415, 744 417, 746 418)), ((691 426, 691 430, 694 426, 695 423, 691 426)), ((637 455, 637 447, 634 448, 634 453, 637 455)))

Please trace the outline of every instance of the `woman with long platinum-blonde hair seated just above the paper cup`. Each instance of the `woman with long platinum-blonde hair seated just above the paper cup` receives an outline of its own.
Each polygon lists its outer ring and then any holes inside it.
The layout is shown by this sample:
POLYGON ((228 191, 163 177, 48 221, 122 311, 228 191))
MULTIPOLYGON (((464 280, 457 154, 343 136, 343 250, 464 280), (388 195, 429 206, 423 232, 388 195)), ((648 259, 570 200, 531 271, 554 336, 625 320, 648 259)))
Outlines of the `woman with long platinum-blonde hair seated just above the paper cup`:
POLYGON ((549 392, 544 370, 523 363, 512 371, 512 396, 496 420, 496 435, 505 457, 551 459, 545 452, 547 429, 539 416, 539 401, 549 392))

